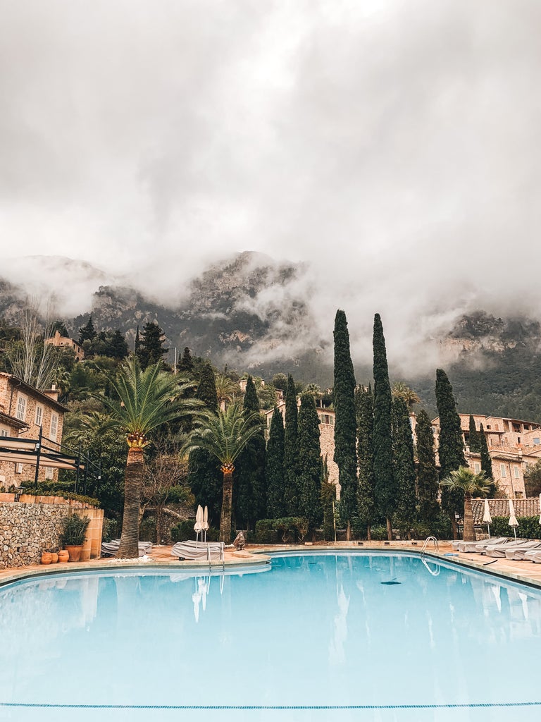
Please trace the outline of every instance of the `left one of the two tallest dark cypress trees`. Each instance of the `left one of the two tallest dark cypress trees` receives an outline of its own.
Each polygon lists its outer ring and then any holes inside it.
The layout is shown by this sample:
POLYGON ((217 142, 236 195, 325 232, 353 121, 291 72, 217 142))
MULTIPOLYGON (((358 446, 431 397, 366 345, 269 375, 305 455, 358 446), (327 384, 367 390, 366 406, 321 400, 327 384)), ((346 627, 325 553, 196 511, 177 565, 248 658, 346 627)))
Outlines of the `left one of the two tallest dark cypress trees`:
POLYGON ((355 375, 349 349, 346 313, 338 310, 334 328, 335 462, 340 484, 340 518, 351 539, 351 520, 357 512, 357 423, 355 375))

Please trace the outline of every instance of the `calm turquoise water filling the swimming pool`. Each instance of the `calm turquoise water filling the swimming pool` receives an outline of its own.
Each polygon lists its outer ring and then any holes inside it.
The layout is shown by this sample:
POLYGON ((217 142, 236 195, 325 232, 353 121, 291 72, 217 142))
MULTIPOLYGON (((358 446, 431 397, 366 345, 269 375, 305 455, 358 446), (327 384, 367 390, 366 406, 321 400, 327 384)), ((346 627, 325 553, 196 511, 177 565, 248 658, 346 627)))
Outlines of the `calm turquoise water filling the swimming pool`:
POLYGON ((0 588, 0 719, 535 721, 541 591, 413 554, 0 588))

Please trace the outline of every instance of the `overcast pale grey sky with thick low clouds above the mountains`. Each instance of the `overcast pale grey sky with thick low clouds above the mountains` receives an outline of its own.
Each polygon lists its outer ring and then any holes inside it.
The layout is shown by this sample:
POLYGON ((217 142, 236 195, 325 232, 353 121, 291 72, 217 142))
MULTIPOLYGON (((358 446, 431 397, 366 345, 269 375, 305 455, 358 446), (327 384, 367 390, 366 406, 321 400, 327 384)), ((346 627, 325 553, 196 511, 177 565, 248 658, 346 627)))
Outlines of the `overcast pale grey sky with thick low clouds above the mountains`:
POLYGON ((343 308, 360 349, 376 311, 397 351, 470 308, 540 312, 539 0, 0 17, 4 256, 82 259, 167 300, 261 251, 309 264, 322 327, 343 308))

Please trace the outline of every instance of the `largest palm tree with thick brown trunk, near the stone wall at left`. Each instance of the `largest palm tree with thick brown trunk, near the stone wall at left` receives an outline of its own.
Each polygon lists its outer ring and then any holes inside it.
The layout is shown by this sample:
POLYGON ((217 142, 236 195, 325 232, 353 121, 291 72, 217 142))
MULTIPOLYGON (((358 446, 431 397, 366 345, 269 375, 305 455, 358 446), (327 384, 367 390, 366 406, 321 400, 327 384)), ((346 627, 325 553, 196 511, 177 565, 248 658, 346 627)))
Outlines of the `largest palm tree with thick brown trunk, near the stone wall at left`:
POLYGON ((167 373, 162 362, 149 365, 144 371, 133 355, 120 366, 118 377, 111 381, 116 399, 98 396, 109 414, 102 428, 120 427, 126 432, 128 458, 124 483, 124 515, 120 536, 119 558, 138 556, 139 509, 144 472, 144 448, 149 433, 167 422, 188 415, 205 414, 198 399, 186 397, 193 383, 167 373))

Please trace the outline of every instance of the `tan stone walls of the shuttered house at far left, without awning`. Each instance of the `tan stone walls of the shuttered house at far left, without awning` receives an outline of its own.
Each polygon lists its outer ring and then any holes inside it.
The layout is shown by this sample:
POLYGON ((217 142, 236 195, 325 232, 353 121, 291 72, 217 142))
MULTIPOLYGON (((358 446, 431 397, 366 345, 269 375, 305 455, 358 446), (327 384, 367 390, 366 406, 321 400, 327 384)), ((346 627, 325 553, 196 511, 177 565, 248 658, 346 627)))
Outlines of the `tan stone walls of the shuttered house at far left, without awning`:
MULTIPOLYGON (((38 391, 9 373, 0 372, 1 437, 37 439, 43 429, 43 443, 60 449, 65 406, 58 403, 58 391, 38 391)), ((0 489, 34 481, 35 465, 0 460, 0 489)), ((58 479, 58 469, 40 464, 38 481, 58 479)))

